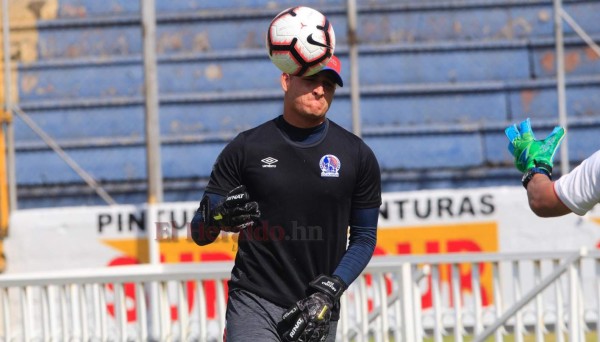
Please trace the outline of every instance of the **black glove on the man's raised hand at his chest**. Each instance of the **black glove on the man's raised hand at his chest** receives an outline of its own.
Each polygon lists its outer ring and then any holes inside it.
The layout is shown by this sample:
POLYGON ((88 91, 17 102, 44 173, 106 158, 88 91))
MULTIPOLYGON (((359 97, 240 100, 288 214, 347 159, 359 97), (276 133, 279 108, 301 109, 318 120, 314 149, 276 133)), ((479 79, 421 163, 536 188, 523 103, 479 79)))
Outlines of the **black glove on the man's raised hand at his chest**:
POLYGON ((233 233, 255 225, 260 218, 258 203, 250 201, 244 185, 229 191, 225 200, 214 209, 210 209, 210 199, 204 196, 198 210, 202 213, 205 227, 215 226, 233 233))

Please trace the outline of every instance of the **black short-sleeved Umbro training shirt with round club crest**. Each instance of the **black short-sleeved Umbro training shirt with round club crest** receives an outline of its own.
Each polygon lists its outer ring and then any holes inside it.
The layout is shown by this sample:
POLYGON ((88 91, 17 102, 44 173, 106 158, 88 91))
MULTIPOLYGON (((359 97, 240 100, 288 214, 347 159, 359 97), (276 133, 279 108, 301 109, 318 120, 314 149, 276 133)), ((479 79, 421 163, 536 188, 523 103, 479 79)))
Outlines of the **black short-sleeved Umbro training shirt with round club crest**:
POLYGON ((371 149, 334 122, 324 125, 321 139, 299 144, 279 117, 240 133, 219 155, 206 191, 246 185, 261 212, 261 225, 239 235, 230 288, 293 305, 311 280, 337 267, 351 209, 381 205, 371 149))

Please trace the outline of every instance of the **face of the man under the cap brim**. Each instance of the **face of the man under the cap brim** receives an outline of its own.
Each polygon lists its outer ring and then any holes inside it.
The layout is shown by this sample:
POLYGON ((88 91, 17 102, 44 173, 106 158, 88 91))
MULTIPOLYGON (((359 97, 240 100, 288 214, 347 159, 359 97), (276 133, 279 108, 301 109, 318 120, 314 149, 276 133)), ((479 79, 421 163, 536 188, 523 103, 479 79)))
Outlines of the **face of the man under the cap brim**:
POLYGON ((305 122, 308 127, 311 123, 320 124, 325 120, 325 114, 333 101, 336 84, 328 72, 319 72, 316 75, 299 77, 289 74, 281 76, 281 86, 285 92, 284 113, 294 119, 305 122))

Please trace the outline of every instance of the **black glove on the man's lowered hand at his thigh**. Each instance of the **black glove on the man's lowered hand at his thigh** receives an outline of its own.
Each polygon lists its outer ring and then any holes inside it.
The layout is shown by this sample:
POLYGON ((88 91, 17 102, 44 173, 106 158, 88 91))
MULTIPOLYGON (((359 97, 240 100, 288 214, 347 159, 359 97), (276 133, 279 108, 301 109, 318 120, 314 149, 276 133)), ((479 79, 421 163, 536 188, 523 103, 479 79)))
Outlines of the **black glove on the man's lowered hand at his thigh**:
POLYGON ((299 300, 282 316, 281 337, 284 341, 325 341, 333 306, 346 290, 337 276, 320 275, 309 283, 316 292, 299 300))

